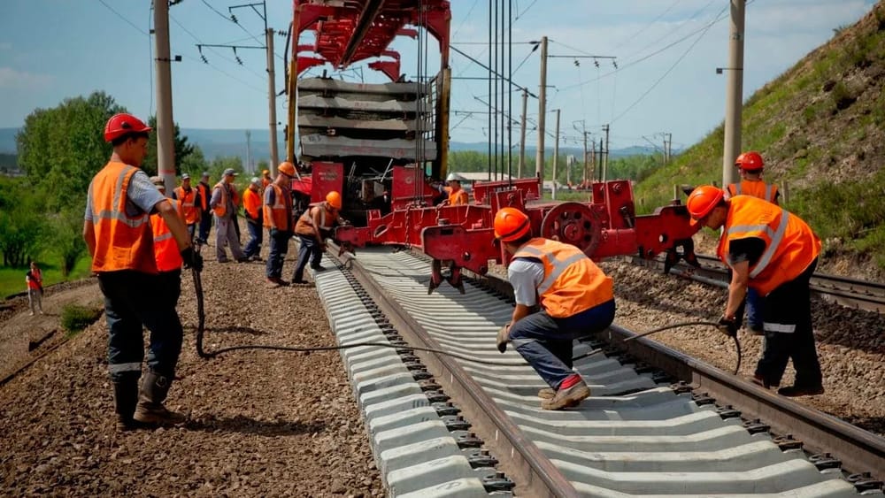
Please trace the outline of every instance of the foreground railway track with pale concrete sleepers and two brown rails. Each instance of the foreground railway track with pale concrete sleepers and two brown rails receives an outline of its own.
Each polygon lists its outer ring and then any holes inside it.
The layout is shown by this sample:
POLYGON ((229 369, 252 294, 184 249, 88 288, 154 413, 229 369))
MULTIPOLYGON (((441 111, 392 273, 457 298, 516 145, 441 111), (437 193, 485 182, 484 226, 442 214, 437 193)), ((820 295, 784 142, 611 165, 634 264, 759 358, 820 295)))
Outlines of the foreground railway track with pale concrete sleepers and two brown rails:
POLYGON ((885 439, 652 341, 627 346, 631 331, 577 343, 604 350, 575 362, 593 394, 544 411, 540 378, 496 350, 501 282, 427 295, 427 263, 383 248, 339 270, 316 277, 338 341, 401 346, 342 351, 392 495, 881 495, 885 439))

